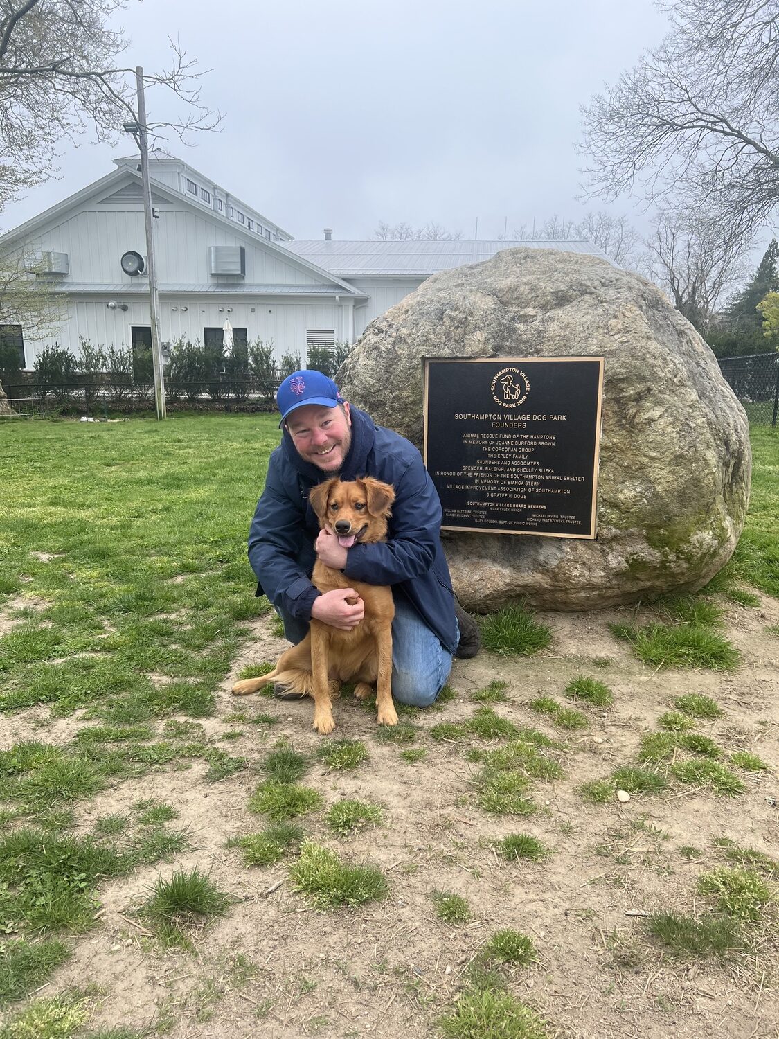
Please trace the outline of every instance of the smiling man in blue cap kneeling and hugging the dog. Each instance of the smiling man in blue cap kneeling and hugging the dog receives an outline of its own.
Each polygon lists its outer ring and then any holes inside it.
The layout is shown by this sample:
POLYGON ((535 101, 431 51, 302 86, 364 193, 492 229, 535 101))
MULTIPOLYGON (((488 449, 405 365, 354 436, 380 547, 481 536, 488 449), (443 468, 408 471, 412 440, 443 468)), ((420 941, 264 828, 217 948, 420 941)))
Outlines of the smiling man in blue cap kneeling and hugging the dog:
POLYGON ((475 657, 480 636, 452 591, 440 543, 440 502, 422 456, 403 436, 345 401, 321 372, 293 372, 278 388, 276 401, 284 435, 270 456, 249 531, 257 594, 268 596, 285 635, 297 644, 312 617, 349 631, 365 612, 353 588, 322 594, 314 587, 317 556, 354 581, 391 585, 393 697, 429 707, 446 685, 452 658, 475 657), (386 541, 345 549, 328 530, 319 529, 308 492, 333 476, 373 476, 395 487, 386 541), (356 603, 347 602, 355 597, 356 603))

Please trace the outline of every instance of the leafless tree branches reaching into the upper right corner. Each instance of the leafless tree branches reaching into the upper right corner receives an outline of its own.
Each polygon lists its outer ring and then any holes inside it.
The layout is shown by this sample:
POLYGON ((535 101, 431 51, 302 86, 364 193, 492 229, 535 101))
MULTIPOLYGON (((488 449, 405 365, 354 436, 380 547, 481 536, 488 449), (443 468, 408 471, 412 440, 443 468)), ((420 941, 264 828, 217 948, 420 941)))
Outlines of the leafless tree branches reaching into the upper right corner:
POLYGON ((748 240, 779 205, 779 0, 659 5, 672 32, 582 108, 587 194, 704 207, 748 240))

